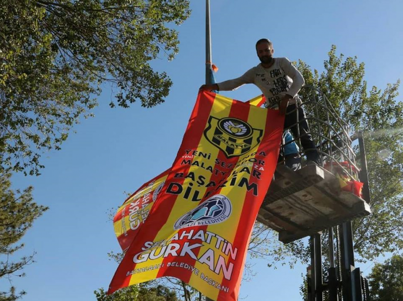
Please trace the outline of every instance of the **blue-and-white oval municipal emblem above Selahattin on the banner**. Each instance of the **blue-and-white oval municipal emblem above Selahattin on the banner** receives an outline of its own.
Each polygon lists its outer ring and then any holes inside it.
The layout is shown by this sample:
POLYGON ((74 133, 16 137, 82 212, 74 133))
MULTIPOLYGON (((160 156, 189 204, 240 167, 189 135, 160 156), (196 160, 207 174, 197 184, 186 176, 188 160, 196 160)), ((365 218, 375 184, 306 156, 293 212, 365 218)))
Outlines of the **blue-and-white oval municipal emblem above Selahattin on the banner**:
POLYGON ((221 223, 230 216, 231 211, 230 200, 223 195, 215 195, 182 215, 175 222, 174 229, 221 223))

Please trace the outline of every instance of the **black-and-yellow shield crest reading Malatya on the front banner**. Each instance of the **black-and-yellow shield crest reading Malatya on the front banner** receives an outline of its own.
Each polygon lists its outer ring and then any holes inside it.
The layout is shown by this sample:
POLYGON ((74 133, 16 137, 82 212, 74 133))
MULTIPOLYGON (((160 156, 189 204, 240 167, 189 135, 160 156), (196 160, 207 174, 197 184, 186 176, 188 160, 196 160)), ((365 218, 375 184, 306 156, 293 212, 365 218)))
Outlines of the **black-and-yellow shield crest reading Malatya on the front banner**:
POLYGON ((213 116, 210 116, 204 131, 206 139, 221 149, 227 158, 246 154, 260 142, 262 134, 262 130, 253 129, 241 119, 213 116))

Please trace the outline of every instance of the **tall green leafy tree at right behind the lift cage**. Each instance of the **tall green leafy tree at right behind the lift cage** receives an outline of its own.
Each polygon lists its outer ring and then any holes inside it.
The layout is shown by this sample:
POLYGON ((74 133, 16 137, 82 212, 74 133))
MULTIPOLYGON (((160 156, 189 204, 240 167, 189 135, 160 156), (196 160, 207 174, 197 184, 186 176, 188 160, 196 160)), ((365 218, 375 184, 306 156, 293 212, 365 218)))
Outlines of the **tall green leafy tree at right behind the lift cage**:
POLYGON ((327 96, 351 133, 364 132, 372 214, 353 222, 354 248, 362 260, 372 260, 403 247, 403 103, 396 99, 400 82, 383 91, 373 86, 368 92, 364 63, 336 50, 333 45, 320 76, 303 62, 298 68, 307 84, 327 96))

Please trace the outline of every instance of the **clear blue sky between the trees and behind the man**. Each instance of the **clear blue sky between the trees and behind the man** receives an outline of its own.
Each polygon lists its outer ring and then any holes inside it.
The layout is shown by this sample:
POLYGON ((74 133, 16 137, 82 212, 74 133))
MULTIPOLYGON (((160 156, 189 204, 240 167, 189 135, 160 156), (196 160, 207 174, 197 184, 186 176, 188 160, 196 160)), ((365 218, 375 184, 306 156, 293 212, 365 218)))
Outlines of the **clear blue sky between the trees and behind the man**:
MULTIPOLYGON (((135 103, 110 109, 111 92, 99 98, 95 117, 75 127, 62 150, 42 155, 42 175, 14 175, 15 188, 34 186, 36 202, 50 209, 23 238, 17 255, 37 252, 36 263, 14 278, 26 301, 95 300, 116 269, 107 252, 119 251, 107 214, 147 180, 167 169, 180 146, 198 87, 205 79, 205 1, 191 1, 191 17, 180 27, 180 52, 172 62, 153 62, 173 81, 166 102, 152 109, 135 103)), ((274 43, 275 56, 302 59, 322 70, 332 44, 366 64, 368 85, 384 88, 403 78, 403 19, 400 0, 297 1, 211 0, 213 63, 218 81, 234 78, 259 63, 254 44, 274 43)), ((400 88, 400 92, 401 92, 400 88)), ((225 92, 248 100, 252 86, 225 92)), ((254 261, 257 276, 244 282, 243 300, 299 300, 301 273, 254 261)), ((370 265, 364 266, 369 271, 370 265)), ((3 283, 3 288, 8 283, 3 283)))

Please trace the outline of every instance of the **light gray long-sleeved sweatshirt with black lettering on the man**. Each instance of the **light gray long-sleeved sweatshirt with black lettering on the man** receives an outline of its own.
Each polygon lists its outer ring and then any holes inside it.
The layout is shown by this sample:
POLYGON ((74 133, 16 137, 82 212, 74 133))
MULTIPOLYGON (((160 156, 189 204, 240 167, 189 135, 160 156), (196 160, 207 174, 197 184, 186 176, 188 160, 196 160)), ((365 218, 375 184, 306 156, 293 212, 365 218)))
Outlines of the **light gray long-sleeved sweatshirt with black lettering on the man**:
POLYGON ((301 103, 299 90, 305 81, 301 73, 288 58, 276 57, 270 68, 263 68, 261 64, 245 72, 244 75, 225 82, 217 83, 220 91, 231 91, 244 84, 255 84, 266 97, 266 107, 277 108, 278 101, 285 94, 293 96, 289 104, 301 103))

